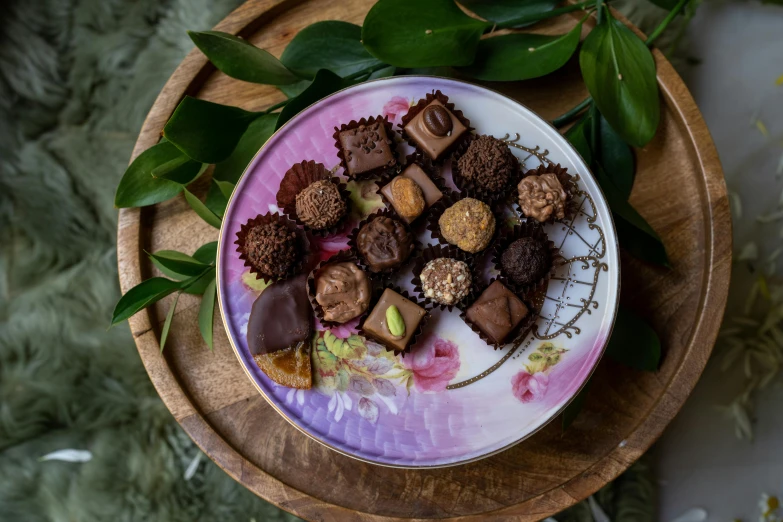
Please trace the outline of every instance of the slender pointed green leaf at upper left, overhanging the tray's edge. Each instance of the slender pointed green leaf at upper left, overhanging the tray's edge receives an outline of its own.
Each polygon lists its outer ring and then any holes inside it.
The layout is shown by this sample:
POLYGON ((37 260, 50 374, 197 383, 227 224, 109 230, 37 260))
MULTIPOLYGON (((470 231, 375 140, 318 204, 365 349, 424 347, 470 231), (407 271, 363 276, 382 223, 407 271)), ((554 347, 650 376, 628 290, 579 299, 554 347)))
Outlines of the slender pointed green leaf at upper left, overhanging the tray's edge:
POLYGON ((232 78, 265 85, 286 85, 299 81, 280 60, 233 34, 188 31, 188 35, 215 67, 232 78))

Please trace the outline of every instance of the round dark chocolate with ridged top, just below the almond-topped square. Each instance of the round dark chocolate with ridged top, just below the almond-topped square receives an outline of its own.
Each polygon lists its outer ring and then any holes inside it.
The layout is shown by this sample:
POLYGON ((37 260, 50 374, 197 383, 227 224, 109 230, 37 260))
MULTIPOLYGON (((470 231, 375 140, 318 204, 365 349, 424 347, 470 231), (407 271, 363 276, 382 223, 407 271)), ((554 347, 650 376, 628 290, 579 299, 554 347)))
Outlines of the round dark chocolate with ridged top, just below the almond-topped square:
POLYGON ((356 248, 372 272, 400 266, 413 251, 413 236, 400 221, 379 216, 359 230, 356 248))

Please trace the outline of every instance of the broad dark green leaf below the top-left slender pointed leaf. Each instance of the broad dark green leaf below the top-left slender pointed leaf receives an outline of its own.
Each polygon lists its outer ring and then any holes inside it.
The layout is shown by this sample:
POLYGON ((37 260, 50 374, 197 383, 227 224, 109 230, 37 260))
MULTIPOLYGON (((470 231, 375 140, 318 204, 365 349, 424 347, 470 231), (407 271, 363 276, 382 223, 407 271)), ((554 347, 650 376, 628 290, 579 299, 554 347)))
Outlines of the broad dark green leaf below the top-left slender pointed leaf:
POLYGON ((257 112, 185 96, 163 135, 196 161, 220 163, 231 155, 258 116, 257 112))

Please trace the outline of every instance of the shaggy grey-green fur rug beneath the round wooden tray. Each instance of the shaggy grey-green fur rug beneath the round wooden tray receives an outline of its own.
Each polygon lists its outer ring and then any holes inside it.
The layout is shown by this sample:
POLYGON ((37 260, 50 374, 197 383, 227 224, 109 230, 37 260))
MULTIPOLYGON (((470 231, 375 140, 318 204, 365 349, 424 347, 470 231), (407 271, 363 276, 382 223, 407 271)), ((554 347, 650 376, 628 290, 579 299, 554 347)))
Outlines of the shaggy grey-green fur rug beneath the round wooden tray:
MULTIPOLYGON (((106 330, 113 194, 142 120, 192 48, 185 31, 239 3, 0 2, 0 520, 295 519, 201 458, 127 327, 106 330), (39 461, 62 449, 92 460, 39 461)), ((633 484, 650 510, 646 469, 601 503, 633 484)), ((580 506, 561 520, 592 520, 580 506)))

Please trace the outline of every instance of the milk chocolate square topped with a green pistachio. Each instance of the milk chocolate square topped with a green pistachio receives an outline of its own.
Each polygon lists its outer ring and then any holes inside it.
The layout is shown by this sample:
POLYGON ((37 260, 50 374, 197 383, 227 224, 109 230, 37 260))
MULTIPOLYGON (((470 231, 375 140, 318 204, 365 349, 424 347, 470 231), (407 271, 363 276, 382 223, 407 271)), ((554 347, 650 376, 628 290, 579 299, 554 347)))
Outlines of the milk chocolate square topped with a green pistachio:
POLYGON ((427 315, 427 312, 424 308, 413 301, 405 299, 394 290, 387 288, 383 291, 378 304, 375 305, 370 315, 367 316, 362 329, 366 336, 384 344, 387 348, 401 352, 408 347, 425 315, 427 315), (389 315, 397 317, 397 320, 399 318, 402 319, 402 330, 397 325, 392 325, 390 329, 387 320, 387 310, 390 306, 397 307, 399 315, 396 312, 389 315), (401 335, 395 335, 400 332, 402 332, 401 335))

